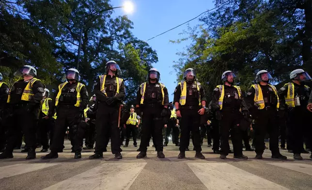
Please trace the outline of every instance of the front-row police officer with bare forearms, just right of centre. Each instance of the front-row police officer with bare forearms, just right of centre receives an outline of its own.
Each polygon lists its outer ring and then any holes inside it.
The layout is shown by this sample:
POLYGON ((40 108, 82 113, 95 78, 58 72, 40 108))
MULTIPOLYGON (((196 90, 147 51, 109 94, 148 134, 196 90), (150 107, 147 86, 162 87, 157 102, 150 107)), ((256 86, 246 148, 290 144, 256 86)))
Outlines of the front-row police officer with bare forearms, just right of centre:
POLYGON ((201 153, 201 115, 205 113, 206 99, 203 87, 196 79, 195 71, 188 68, 184 72, 184 81, 179 82, 174 90, 173 102, 176 115, 180 119, 180 154, 178 158, 185 158, 185 150, 189 144, 190 131, 193 135, 193 144, 196 149, 195 158, 204 159, 201 153))

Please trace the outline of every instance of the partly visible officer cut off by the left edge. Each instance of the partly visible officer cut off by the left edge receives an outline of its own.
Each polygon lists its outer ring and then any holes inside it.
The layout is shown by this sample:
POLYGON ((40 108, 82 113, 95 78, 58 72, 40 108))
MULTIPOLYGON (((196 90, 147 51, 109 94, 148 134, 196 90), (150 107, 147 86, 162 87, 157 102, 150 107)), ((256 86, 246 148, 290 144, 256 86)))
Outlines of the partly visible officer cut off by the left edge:
POLYGON ((5 109, 6 102, 9 95, 9 86, 2 82, 2 74, 0 73, 0 152, 4 151, 6 137, 5 137, 5 127, 4 127, 4 117, 7 115, 5 109))

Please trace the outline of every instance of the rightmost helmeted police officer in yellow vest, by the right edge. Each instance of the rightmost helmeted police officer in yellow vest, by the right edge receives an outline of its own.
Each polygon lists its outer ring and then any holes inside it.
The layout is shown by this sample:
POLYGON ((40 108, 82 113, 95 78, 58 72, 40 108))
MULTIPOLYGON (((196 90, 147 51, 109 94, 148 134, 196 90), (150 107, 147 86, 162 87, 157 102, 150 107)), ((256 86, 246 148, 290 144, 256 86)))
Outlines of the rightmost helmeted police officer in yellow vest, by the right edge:
MULTIPOLYGON (((303 150, 303 134, 311 130, 309 128, 311 127, 309 118, 311 115, 306 109, 311 88, 305 85, 305 82, 310 81, 311 77, 303 69, 296 69, 290 73, 290 79, 292 82, 286 83, 278 91, 281 99, 280 110, 288 112, 287 127, 291 134, 294 159, 303 159, 300 155, 303 150)), ((311 144, 311 141, 310 138, 307 143, 311 144)))

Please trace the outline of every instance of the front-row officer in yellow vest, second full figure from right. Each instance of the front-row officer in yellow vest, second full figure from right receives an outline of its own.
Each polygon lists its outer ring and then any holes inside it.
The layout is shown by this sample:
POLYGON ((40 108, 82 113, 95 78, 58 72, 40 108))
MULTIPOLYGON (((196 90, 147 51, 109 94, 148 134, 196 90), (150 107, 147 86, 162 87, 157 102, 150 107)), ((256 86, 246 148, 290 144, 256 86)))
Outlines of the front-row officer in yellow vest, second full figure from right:
POLYGON ((256 75, 257 84, 253 84, 246 94, 248 108, 255 120, 253 144, 257 159, 262 159, 266 133, 270 136, 272 158, 287 159, 279 150, 279 127, 277 125, 277 110, 280 106, 279 96, 275 86, 269 84, 270 73, 261 70, 256 75))

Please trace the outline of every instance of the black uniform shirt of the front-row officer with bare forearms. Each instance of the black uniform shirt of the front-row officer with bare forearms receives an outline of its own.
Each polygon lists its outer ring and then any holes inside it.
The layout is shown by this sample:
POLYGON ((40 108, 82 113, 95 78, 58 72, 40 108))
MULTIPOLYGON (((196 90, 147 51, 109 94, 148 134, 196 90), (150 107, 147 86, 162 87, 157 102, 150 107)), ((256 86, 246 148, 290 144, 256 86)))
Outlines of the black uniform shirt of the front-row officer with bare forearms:
MULTIPOLYGON (((200 88, 200 91, 198 92, 197 86, 194 82, 187 82, 187 99, 185 105, 186 106, 199 105, 199 95, 201 95, 201 101, 207 101, 205 97, 205 91, 203 90, 202 86, 200 88)), ((178 86, 176 86, 174 90, 173 103, 180 102, 180 97, 181 97, 181 85, 178 84, 178 86)))

